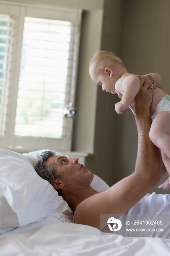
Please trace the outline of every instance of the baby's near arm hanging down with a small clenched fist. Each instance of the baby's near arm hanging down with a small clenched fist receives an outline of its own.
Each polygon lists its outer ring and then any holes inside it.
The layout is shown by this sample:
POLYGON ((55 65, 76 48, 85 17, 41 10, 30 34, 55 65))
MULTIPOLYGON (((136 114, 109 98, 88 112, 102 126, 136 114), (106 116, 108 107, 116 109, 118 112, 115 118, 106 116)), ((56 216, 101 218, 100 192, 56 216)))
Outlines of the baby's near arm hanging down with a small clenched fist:
MULTIPOLYGON (((139 91, 140 81, 137 76, 126 76, 123 81, 123 96, 120 102, 115 105, 118 114, 122 114, 125 109, 132 103, 139 91)), ((116 89, 116 88, 115 88, 116 89)))

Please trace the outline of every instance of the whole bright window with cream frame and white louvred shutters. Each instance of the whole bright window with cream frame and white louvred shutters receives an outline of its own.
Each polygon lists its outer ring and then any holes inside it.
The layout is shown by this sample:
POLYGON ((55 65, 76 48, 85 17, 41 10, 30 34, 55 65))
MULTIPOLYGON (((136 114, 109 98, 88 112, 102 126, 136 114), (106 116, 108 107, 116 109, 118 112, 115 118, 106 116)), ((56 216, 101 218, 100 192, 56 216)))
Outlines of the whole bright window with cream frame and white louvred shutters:
POLYGON ((73 120, 63 109, 75 88, 81 13, 8 7, 1 4, 1 147, 69 151, 73 120))

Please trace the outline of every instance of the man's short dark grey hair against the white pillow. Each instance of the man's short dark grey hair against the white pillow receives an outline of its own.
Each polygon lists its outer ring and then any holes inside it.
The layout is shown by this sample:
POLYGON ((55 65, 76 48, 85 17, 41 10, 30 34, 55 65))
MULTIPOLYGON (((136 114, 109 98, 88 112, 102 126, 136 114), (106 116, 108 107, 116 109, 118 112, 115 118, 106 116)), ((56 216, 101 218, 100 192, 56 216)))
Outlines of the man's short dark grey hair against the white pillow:
MULTIPOLYGON (((48 158, 53 157, 55 152, 53 151, 44 151, 42 154, 39 155, 38 160, 35 165, 35 170, 40 177, 44 180, 47 180, 51 185, 53 181, 57 178, 63 178, 64 174, 57 174, 53 168, 53 166, 46 167, 45 163, 48 158)), ((60 196, 63 196, 61 189, 56 189, 60 196)))

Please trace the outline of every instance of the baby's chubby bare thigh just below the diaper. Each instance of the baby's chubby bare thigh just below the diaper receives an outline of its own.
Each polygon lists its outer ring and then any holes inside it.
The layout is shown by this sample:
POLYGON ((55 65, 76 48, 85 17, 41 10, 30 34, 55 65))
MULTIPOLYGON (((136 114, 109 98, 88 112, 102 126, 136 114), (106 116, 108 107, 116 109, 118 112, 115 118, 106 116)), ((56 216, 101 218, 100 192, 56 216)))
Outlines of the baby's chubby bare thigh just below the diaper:
POLYGON ((155 146, 170 158, 170 114, 167 111, 159 112, 155 116, 149 136, 155 146))

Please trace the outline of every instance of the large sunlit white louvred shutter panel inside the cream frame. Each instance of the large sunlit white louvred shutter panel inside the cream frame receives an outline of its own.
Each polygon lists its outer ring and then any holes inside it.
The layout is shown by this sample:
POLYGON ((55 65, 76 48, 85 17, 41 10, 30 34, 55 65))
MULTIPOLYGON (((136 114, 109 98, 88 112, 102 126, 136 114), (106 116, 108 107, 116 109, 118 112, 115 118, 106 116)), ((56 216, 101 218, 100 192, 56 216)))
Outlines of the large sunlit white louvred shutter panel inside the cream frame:
POLYGON ((15 135, 63 137, 73 30, 68 21, 25 18, 15 135))

